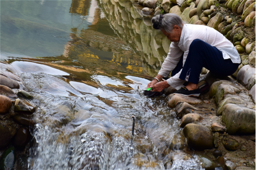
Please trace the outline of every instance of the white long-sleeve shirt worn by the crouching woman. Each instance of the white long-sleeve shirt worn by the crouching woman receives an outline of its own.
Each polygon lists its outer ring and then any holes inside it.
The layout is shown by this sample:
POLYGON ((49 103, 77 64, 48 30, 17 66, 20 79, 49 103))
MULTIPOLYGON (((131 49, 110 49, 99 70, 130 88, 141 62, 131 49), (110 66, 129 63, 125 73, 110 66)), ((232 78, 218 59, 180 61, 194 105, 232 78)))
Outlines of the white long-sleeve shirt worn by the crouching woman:
MULTIPOLYGON (((164 77, 169 76, 170 72, 177 66, 183 53, 184 66, 189 53, 189 46, 195 39, 200 39, 211 46, 218 48, 219 51, 223 53, 224 59, 231 59, 233 63, 241 63, 241 59, 236 48, 217 30, 204 25, 184 24, 180 41, 171 42, 169 53, 158 74, 164 77)), ((171 87, 179 89, 185 82, 179 79, 181 71, 182 70, 167 80, 171 87)))

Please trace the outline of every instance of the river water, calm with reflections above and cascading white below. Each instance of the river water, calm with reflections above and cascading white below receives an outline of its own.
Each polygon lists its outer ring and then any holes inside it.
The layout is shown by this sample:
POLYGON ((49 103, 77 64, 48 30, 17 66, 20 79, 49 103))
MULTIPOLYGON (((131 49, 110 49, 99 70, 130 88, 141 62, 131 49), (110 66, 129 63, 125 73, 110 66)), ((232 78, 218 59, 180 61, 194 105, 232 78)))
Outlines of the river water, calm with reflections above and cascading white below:
POLYGON ((30 170, 201 169, 165 96, 143 94, 167 54, 131 3, 0 3, 1 70, 21 77, 37 106, 30 170))

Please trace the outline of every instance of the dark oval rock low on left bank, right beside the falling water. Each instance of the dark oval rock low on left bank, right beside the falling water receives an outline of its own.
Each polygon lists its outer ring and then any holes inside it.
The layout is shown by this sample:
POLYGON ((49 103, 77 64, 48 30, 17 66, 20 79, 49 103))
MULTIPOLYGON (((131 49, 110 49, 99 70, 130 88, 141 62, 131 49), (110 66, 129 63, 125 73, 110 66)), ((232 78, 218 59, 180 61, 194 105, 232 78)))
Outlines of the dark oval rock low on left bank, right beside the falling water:
POLYGON ((14 145, 19 148, 24 148, 29 141, 30 132, 28 129, 20 127, 14 138, 14 145))

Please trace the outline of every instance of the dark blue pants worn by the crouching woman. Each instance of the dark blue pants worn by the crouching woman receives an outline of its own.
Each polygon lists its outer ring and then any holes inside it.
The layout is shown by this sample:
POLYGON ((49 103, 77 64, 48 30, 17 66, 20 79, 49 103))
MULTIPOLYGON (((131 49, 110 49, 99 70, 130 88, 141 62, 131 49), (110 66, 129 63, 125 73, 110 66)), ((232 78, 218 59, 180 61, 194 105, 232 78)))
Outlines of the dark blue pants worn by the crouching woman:
POLYGON ((180 79, 198 84, 203 67, 210 70, 216 76, 230 76, 238 69, 238 63, 232 63, 231 59, 223 59, 222 52, 216 47, 204 41, 195 39, 189 47, 189 54, 183 66, 183 57, 171 76, 176 75, 181 69, 180 79))

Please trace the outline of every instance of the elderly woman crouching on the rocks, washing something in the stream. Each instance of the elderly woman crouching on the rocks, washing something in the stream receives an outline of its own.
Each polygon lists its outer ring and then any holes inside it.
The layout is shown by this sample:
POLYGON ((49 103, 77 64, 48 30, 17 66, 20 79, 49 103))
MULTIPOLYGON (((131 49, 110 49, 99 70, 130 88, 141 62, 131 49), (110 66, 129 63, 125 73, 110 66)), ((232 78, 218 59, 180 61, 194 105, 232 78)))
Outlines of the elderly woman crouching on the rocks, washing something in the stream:
POLYGON ((198 82, 203 67, 217 76, 230 76, 241 63, 233 44, 213 28, 184 24, 173 13, 153 17, 152 25, 172 41, 161 70, 147 86, 153 91, 160 92, 171 86, 179 89, 174 94, 199 96, 198 82), (170 72, 171 78, 160 82, 170 72), (185 82, 188 83, 183 86, 185 82))

